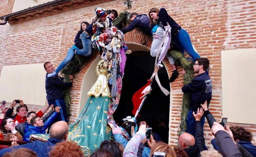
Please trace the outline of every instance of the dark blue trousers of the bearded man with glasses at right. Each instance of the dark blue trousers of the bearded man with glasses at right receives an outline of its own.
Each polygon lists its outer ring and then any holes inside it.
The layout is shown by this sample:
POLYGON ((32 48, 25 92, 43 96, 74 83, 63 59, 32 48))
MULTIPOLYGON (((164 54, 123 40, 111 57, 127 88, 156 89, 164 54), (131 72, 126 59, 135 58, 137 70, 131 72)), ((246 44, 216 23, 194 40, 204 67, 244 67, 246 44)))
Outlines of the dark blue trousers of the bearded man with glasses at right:
MULTIPOLYGON (((195 112, 196 114, 197 112, 195 112)), ((187 113, 187 133, 190 133, 191 135, 193 135, 195 137, 195 123, 196 123, 196 119, 194 119, 193 116, 193 111, 188 111, 187 113)), ((201 125, 202 125, 202 129, 203 129, 203 124, 205 122, 205 116, 203 115, 203 117, 201 118, 201 125)), ((203 131, 203 130, 202 130, 203 131)))

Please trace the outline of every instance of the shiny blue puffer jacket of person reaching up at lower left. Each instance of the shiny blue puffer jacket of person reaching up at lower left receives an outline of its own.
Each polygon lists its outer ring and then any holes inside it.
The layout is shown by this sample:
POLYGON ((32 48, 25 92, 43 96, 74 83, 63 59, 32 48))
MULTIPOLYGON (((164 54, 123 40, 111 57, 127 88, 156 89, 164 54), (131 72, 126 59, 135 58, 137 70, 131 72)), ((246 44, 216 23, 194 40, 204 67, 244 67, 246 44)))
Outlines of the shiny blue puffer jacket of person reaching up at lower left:
POLYGON ((53 123, 58 113, 54 112, 45 122, 43 126, 32 126, 31 124, 25 124, 23 141, 30 141, 31 134, 45 134, 46 129, 53 123))

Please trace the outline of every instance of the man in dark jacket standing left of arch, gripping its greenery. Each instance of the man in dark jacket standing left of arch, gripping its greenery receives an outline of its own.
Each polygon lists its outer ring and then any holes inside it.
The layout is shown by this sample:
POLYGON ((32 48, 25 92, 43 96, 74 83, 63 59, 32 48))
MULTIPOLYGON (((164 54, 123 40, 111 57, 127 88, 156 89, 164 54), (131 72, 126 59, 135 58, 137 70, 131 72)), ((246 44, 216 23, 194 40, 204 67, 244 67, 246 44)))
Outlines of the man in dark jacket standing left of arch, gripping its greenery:
POLYGON ((60 114, 58 114, 58 120, 63 120, 67 122, 67 112, 66 112, 66 104, 64 101, 64 90, 66 88, 71 88, 73 85, 72 80, 73 76, 69 75, 70 82, 64 82, 62 77, 59 75, 54 75, 52 77, 48 77, 49 73, 53 73, 55 68, 53 64, 50 62, 45 62, 43 64, 46 73, 46 99, 48 100, 48 104, 53 104, 54 107, 60 106, 60 114))

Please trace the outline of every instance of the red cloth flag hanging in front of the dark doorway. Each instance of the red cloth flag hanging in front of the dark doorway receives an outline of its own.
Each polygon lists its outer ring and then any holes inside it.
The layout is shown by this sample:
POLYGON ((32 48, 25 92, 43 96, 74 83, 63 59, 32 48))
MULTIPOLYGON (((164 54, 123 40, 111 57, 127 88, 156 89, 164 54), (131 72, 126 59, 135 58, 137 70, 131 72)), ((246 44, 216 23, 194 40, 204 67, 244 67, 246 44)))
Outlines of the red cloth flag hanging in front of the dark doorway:
POLYGON ((132 98, 132 101, 133 101, 132 113, 133 113, 133 115, 135 115, 137 109, 139 108, 140 103, 142 102, 142 99, 143 99, 142 95, 144 95, 142 93, 142 91, 149 85, 150 85, 150 80, 148 80, 148 83, 145 86, 143 86, 136 93, 134 93, 133 98, 132 98), (140 99, 140 97, 142 97, 142 98, 140 99))

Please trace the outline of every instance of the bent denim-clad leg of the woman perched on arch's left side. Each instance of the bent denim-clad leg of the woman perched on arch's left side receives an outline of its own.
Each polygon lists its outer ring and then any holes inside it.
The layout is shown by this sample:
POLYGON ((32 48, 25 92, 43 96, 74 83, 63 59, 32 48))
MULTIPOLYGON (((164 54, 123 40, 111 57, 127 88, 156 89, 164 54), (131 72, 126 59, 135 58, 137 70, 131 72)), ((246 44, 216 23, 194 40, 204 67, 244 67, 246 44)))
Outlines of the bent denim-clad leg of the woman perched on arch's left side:
POLYGON ((83 49, 77 50, 78 55, 89 56, 91 55, 91 37, 86 33, 81 34, 83 49))

